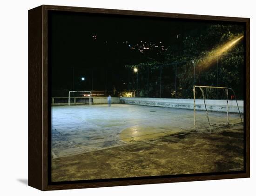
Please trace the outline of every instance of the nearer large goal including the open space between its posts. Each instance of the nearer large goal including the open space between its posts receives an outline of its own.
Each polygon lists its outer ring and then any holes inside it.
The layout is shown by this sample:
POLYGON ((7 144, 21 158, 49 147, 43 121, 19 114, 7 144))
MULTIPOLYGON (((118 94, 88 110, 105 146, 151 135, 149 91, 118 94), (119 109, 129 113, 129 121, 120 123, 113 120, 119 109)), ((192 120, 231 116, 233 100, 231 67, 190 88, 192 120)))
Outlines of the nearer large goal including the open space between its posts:
MULTIPOLYGON (((236 119, 241 120, 243 123, 242 115, 233 89, 228 87, 194 86, 193 93, 195 129, 198 127, 206 128, 208 126, 211 133, 214 126, 223 123, 229 124, 230 104, 232 105, 232 108, 236 107, 236 119), (196 114, 196 111, 199 110, 201 110, 201 113, 196 114)), ((234 109, 232 112, 234 112, 234 109)), ((232 118, 232 120, 233 119, 234 118, 232 118)))

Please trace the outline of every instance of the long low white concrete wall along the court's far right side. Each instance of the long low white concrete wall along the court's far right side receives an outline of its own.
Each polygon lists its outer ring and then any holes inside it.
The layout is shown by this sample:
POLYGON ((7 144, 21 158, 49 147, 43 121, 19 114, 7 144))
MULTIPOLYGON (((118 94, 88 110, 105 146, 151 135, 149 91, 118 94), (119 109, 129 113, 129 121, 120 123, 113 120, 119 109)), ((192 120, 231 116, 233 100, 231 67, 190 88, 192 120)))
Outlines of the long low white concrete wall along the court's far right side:
MULTIPOLYGON (((243 101, 237 101, 239 110, 243 113, 243 101)), ((164 98, 137 98, 137 97, 121 97, 120 103, 136 104, 143 106, 157 107, 174 107, 184 109, 194 109, 193 99, 164 99, 164 98)), ((206 100, 207 109, 209 111, 227 112, 226 100, 206 100)), ((205 110, 204 101, 201 99, 195 100, 196 110, 205 110)), ((229 100, 229 112, 238 113, 238 108, 235 100, 229 100)))

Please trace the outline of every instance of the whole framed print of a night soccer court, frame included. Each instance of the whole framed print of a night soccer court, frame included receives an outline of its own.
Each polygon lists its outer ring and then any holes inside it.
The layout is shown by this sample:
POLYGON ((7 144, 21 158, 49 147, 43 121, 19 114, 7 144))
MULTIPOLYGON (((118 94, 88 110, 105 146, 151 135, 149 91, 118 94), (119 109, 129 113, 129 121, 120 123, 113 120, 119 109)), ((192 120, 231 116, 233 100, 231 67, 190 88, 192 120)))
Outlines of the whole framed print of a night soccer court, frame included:
POLYGON ((28 184, 249 177, 249 19, 28 11, 28 184))

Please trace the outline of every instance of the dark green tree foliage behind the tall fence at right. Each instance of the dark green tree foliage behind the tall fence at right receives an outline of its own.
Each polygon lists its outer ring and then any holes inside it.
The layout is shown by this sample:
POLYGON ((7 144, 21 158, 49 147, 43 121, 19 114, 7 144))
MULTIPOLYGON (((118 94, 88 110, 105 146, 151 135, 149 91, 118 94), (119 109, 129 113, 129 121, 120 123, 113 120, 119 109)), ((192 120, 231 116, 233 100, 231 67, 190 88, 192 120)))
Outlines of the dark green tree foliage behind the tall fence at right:
MULTIPOLYGON (((177 45, 170 45, 157 59, 147 57, 144 62, 129 65, 129 68, 143 70, 139 72, 141 85, 138 85, 138 91, 142 93, 138 96, 192 98, 195 66, 195 85, 226 86, 235 90, 237 98, 243 99, 243 39, 221 56, 214 56, 215 51, 241 35, 242 25, 208 25, 196 35, 184 34, 179 43, 182 49, 178 52, 177 45), (199 69, 205 58, 211 64, 199 69), (149 82, 145 82, 148 77, 149 82)), ((133 79, 130 88, 136 89, 135 86, 133 79)))

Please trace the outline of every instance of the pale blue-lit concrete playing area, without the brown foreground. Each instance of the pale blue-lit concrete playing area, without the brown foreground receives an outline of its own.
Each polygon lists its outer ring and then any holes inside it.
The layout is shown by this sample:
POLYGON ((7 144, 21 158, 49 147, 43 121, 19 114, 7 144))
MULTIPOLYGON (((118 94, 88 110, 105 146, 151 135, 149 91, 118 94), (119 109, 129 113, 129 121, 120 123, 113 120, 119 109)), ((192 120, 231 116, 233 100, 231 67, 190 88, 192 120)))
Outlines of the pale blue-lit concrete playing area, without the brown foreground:
MULTIPOLYGON (((211 112, 214 125, 227 124, 226 113, 211 112)), ((239 122, 239 114, 229 114, 239 122)), ((197 128, 209 128, 204 111, 197 111, 197 128)), ((53 157, 106 149, 194 129, 193 110, 128 104, 52 107, 53 157)))

